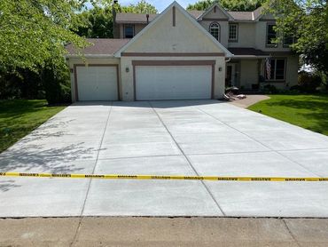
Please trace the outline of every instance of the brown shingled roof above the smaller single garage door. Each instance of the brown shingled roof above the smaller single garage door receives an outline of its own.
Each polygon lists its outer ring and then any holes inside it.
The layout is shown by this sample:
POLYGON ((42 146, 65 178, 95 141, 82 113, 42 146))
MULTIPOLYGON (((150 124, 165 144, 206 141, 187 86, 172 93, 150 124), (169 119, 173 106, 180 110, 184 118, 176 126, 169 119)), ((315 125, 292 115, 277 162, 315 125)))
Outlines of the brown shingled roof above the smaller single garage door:
MULTIPOLYGON (((113 56, 116 51, 118 51, 124 44, 129 42, 129 39, 87 38, 87 41, 93 45, 90 45, 81 51, 84 56, 113 56)), ((74 57, 79 53, 78 50, 74 48, 73 44, 66 45, 66 50, 68 52, 66 57, 74 57)))

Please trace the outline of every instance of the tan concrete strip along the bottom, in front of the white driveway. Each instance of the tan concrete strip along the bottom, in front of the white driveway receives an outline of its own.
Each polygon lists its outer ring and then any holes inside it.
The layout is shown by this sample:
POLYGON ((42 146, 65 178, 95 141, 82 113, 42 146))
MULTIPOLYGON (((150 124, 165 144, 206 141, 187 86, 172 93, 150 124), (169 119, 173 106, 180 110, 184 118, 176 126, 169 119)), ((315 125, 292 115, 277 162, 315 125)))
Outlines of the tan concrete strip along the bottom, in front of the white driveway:
POLYGON ((0 219, 0 246, 328 246, 328 219, 0 219))

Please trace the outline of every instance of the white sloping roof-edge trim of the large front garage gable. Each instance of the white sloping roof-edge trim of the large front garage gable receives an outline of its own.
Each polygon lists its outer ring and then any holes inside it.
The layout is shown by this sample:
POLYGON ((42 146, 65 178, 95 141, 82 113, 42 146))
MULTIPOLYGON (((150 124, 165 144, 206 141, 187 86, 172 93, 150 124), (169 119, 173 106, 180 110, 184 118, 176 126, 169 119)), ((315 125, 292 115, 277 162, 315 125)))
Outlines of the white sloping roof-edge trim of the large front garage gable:
POLYGON ((214 36, 212 36, 209 32, 207 32, 207 30, 205 29, 205 28, 203 28, 203 27, 201 27, 200 26, 200 24, 199 24, 199 22, 197 22, 197 20, 195 20, 192 16, 191 16, 191 14, 189 14, 188 12, 186 12, 185 10, 184 10, 184 8, 180 5, 180 4, 178 4, 178 3, 176 3, 176 1, 175 2, 173 2, 172 4, 170 4, 163 12, 161 12, 160 13, 160 15, 158 15, 158 16, 156 16, 156 18, 150 23, 150 24, 148 24, 145 28, 143 28, 138 34, 137 34, 137 36, 134 36, 130 41, 129 41, 129 43, 128 44, 125 44, 123 47, 121 47, 121 49, 119 50, 119 51, 117 51, 117 52, 115 52, 115 57, 121 57, 121 52, 123 52, 123 51, 125 51, 128 47, 129 47, 129 45, 131 45, 131 44, 134 44, 136 41, 137 41, 137 39, 140 37, 140 36, 143 36, 143 34, 144 34, 144 32, 147 32, 147 30, 149 29, 149 28, 152 28, 152 26, 153 25, 155 25, 155 23, 158 21, 158 20, 160 20, 160 17, 161 16, 164 16, 171 8, 173 8, 173 7, 176 7, 176 10, 179 10, 182 14, 184 14, 184 16, 188 19, 188 20, 190 20, 191 21, 191 23, 195 26, 195 28, 199 28, 199 30, 205 35, 205 36, 207 36, 219 49, 221 49, 224 53, 225 53, 225 55, 227 56, 227 57, 232 57, 233 55, 232 55, 232 53, 231 52, 229 52, 229 50, 227 49, 227 48, 225 48, 224 46, 223 46, 223 44, 221 44, 220 42, 218 42, 216 39, 215 39, 215 37, 214 36))

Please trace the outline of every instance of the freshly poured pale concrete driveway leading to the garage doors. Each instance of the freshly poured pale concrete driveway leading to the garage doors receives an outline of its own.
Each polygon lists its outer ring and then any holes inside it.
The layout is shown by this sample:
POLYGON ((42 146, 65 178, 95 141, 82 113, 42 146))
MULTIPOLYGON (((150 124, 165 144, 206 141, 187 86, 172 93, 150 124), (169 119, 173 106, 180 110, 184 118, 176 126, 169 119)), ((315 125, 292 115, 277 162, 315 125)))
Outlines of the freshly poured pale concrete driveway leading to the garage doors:
MULTIPOLYGON (((217 100, 74 104, 0 171, 328 177, 328 137, 217 100)), ((328 217, 328 182, 0 178, 0 217, 328 217)))

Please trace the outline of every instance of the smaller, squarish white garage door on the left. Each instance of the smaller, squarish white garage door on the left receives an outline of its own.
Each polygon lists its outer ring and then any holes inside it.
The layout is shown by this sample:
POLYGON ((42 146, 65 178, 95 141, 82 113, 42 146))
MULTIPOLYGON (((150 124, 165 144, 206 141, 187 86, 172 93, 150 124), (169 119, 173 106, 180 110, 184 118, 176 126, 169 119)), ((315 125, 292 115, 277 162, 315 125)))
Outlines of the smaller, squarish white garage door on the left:
POLYGON ((118 100, 116 67, 78 66, 76 79, 79 100, 118 100))

